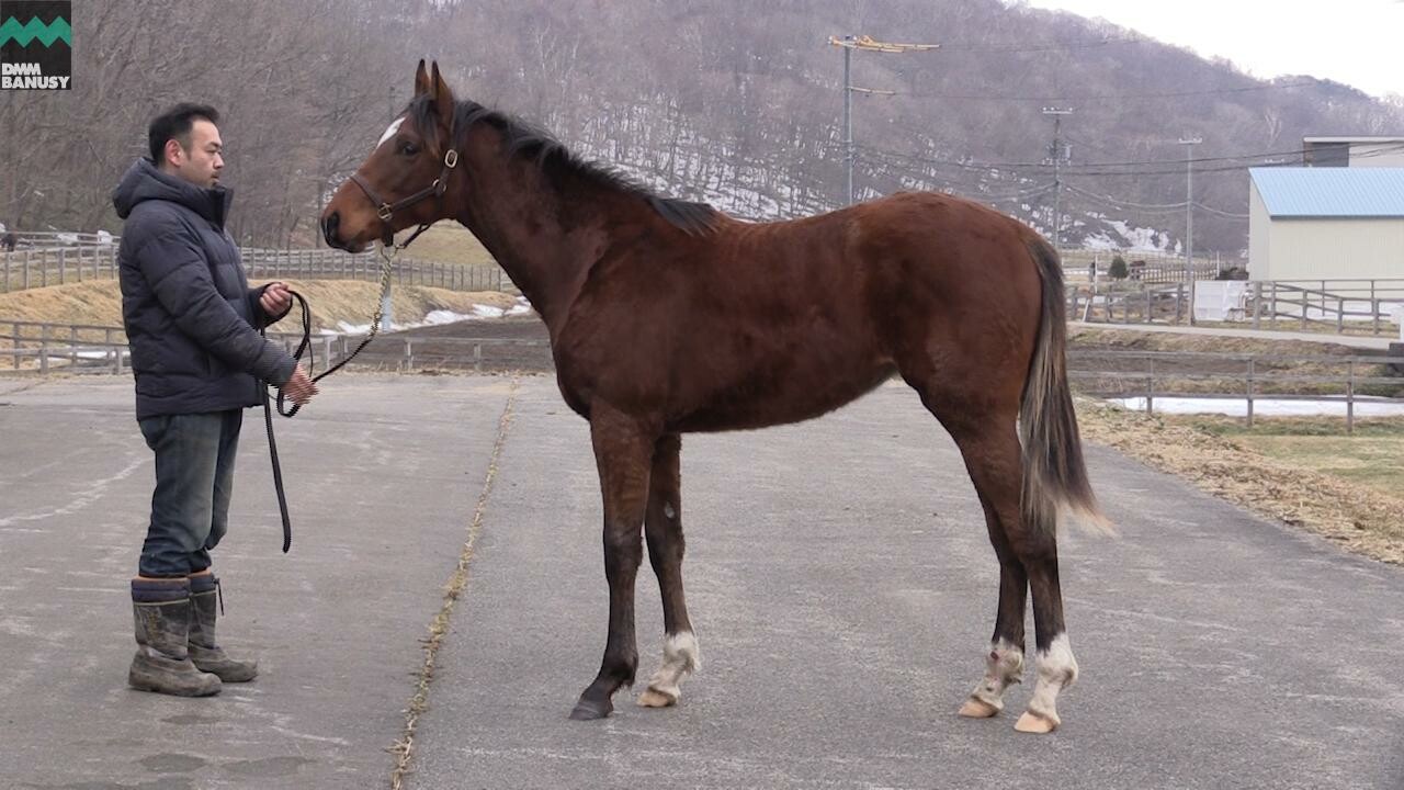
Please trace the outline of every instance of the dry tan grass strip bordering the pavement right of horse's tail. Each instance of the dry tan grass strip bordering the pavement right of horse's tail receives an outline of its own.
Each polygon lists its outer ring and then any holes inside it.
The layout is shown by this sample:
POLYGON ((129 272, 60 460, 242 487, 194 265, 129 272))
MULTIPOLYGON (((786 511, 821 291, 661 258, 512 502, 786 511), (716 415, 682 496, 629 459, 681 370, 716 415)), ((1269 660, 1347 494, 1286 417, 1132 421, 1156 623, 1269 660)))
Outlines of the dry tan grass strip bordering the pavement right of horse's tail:
POLYGON ((1214 496, 1304 527, 1358 554, 1404 565, 1404 499, 1311 468, 1302 462, 1300 447, 1271 457, 1238 437, 1088 399, 1080 401, 1078 417, 1090 441, 1115 447, 1214 496))

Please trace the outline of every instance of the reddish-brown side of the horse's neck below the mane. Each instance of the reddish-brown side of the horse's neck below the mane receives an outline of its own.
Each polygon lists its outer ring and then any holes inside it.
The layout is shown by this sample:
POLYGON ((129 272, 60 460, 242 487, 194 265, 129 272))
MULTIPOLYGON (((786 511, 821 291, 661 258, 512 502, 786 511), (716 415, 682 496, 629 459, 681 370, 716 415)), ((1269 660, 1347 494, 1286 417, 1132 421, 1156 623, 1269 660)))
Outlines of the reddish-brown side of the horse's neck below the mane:
POLYGON ((562 205, 564 195, 546 184, 535 163, 510 159, 498 145, 470 138, 465 146, 468 183, 458 221, 477 236, 555 336, 604 249, 604 218, 594 215, 602 209, 562 205), (569 228, 562 224, 567 211, 569 228))

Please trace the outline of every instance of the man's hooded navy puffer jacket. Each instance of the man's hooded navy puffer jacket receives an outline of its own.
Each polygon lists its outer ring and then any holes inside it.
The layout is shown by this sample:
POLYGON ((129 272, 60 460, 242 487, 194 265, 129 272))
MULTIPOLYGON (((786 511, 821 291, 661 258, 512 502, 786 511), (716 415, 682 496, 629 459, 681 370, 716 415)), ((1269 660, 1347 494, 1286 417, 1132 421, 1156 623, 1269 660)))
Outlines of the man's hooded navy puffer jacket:
POLYGON ((138 159, 112 193, 126 221, 118 247, 122 323, 136 375, 136 419, 260 403, 258 380, 282 385, 296 363, 258 329, 282 316, 258 305, 225 231, 233 194, 201 188, 138 159))

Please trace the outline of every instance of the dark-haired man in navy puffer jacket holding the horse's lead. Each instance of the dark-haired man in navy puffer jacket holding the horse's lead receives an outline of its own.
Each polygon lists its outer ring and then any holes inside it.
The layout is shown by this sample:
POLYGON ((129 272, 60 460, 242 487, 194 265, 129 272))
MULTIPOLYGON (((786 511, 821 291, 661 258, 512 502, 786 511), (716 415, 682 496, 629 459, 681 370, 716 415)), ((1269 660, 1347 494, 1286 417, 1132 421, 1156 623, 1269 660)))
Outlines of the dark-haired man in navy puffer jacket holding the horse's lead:
POLYGON ((118 249, 122 323, 136 377, 136 420, 156 453, 156 492, 132 581, 136 655, 128 682, 180 696, 253 680, 257 662, 215 642, 219 581, 209 552, 226 530, 243 409, 263 382, 295 403, 316 395, 296 361, 258 329, 288 313, 286 285, 249 288, 225 231, 232 193, 218 112, 180 104, 147 129, 112 193, 126 221, 118 249))

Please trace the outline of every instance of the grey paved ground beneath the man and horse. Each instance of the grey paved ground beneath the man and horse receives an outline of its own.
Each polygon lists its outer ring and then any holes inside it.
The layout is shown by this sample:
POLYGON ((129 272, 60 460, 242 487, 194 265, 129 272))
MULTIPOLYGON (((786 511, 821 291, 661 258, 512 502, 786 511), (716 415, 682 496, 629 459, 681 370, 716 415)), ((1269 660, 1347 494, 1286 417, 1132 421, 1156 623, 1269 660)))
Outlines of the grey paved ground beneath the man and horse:
MULTIPOLYGON (((286 557, 250 413, 218 562, 225 641, 264 676, 211 700, 131 692, 125 582, 152 467, 129 382, 28 381, 0 381, 7 787, 388 786, 508 402, 407 787, 1404 786, 1404 572, 1102 448, 1091 471, 1122 537, 1063 541, 1082 666, 1063 730, 958 718, 997 569, 953 446, 896 385, 803 426, 684 441, 703 668, 677 708, 619 699, 608 721, 566 720, 607 599, 585 429, 545 377, 515 395, 493 377, 329 382, 279 426, 286 557)), ((639 599, 647 673, 647 569, 639 599)))

